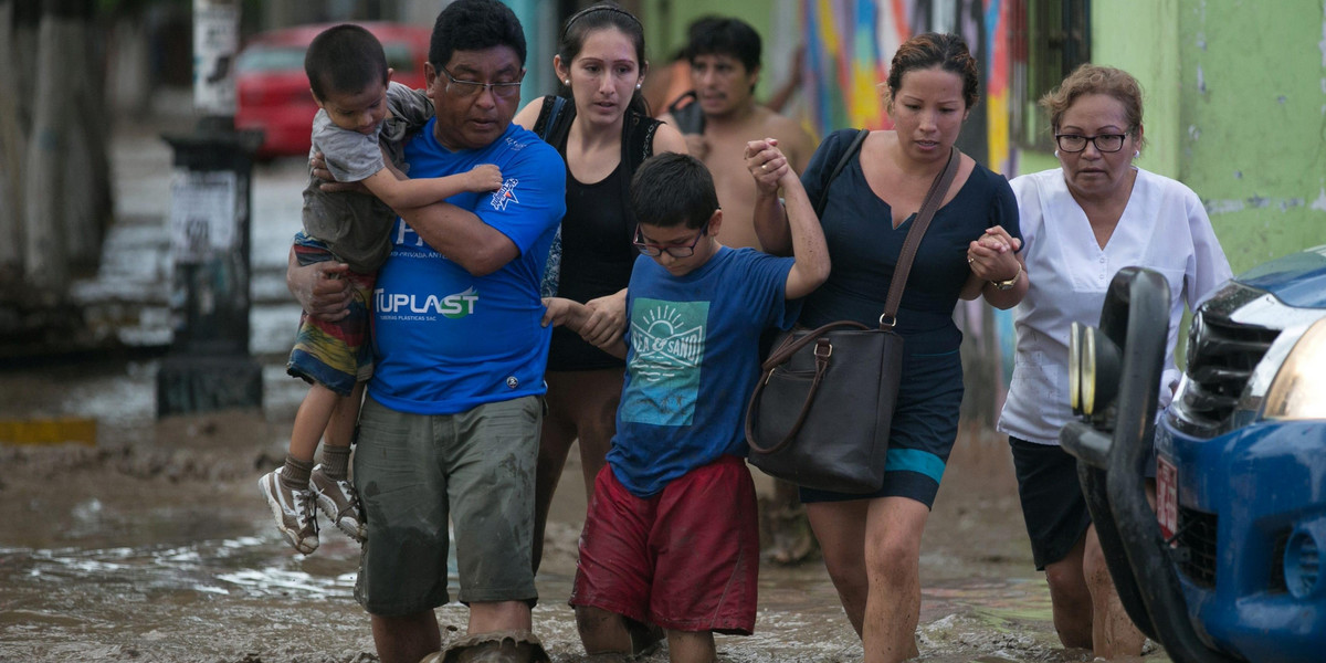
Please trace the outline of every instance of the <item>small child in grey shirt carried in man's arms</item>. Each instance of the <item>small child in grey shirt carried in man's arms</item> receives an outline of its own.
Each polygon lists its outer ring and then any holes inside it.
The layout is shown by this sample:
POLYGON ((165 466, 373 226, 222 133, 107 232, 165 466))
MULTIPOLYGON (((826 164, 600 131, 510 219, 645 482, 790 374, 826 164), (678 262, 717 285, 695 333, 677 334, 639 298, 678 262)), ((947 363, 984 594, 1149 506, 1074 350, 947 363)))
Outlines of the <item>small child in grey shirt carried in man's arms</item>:
POLYGON ((432 115, 422 91, 391 82, 382 44, 358 25, 337 25, 313 38, 304 58, 318 105, 313 152, 322 152, 338 182, 361 182, 370 195, 326 192, 310 175, 304 190, 304 231, 294 236, 301 265, 333 260, 349 265, 349 314, 335 322, 305 313, 286 370, 310 383, 294 416, 285 464, 259 480, 272 517, 296 550, 318 548, 314 503, 355 541, 363 541, 359 499, 349 481, 350 440, 363 383, 373 375, 369 316, 378 268, 391 251, 396 211, 423 207, 463 191, 501 186, 496 166, 460 175, 407 179, 406 135, 432 115), (313 464, 318 440, 322 463, 313 464))

